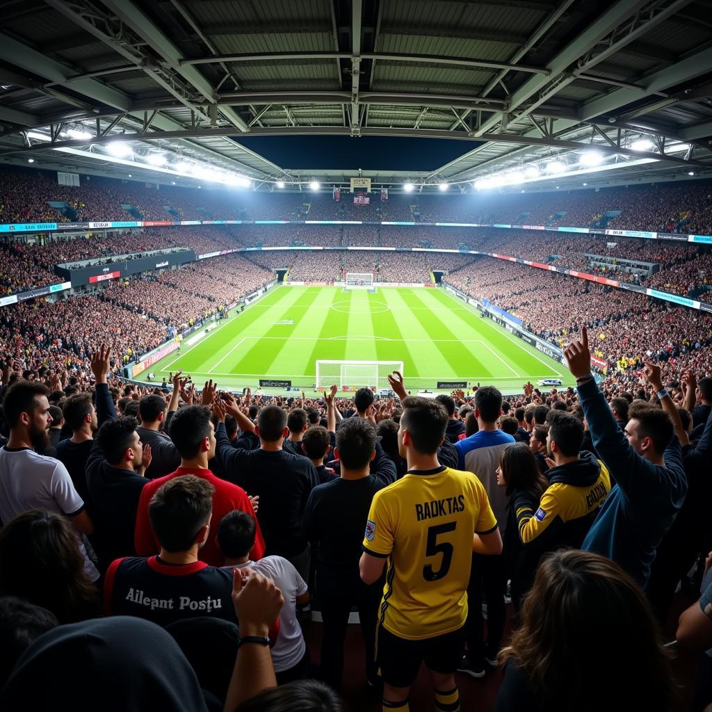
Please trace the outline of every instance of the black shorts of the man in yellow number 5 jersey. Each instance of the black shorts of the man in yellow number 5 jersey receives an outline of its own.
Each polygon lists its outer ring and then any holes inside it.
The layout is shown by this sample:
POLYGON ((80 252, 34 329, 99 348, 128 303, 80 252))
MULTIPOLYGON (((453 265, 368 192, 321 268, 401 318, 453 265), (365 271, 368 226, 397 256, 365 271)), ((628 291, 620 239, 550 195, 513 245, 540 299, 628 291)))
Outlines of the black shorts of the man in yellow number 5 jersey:
POLYGON ((418 676, 420 664, 444 675, 456 671, 465 645, 465 627, 422 640, 407 640, 378 627, 376 660, 384 683, 410 687, 418 676))

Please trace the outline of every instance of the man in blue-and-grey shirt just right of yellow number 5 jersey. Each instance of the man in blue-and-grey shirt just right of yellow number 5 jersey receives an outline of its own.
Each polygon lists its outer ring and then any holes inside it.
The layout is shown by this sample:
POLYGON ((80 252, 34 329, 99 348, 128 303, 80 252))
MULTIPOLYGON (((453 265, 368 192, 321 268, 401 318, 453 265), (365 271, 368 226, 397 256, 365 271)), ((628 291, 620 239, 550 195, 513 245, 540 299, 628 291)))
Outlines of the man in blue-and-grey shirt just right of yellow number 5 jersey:
MULTIPOLYGON (((478 431, 455 444, 460 468, 476 475, 487 493, 492 511, 505 530, 509 498, 506 488, 497 484, 497 468, 503 449, 514 442, 513 436, 497 428, 502 413, 502 394, 492 386, 475 393, 475 417, 478 431)), ((459 670, 472 677, 485 674, 485 663, 497 664, 497 654, 504 633, 507 586, 504 558, 478 556, 473 553, 468 585, 467 649, 459 670), (481 601, 487 603, 487 642, 484 642, 484 622, 481 601)))

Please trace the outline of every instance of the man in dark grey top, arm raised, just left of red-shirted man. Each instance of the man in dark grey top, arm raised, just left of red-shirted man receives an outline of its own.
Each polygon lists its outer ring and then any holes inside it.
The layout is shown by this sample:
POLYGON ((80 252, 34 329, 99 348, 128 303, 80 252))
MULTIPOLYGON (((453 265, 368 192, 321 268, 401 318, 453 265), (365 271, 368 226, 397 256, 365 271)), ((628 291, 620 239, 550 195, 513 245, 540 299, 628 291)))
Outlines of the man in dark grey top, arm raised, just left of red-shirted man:
POLYGON ((180 465, 180 454, 167 434, 171 418, 178 409, 179 375, 180 372, 173 379, 173 392, 168 405, 163 396, 156 394, 146 395, 139 401, 141 424, 137 429, 138 435, 143 443, 151 446, 152 461, 146 471, 149 480, 174 472, 180 465))

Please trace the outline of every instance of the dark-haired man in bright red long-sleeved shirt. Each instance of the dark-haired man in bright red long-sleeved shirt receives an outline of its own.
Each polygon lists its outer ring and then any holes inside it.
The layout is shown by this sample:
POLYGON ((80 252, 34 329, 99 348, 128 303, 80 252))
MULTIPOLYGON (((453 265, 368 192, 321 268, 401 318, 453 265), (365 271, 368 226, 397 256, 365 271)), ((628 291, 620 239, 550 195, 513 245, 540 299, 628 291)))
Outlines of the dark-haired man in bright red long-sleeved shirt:
MULTIPOLYGON (((175 472, 148 483, 141 493, 134 535, 136 553, 140 556, 155 553, 160 547, 161 540, 151 526, 150 501, 159 488, 174 478, 192 475, 209 483, 213 492, 212 511, 218 521, 235 509, 248 513, 252 518, 255 516, 252 503, 244 489, 216 477, 208 469, 208 461, 215 455, 216 446, 209 407, 189 405, 179 410, 171 420, 170 434, 181 456, 181 463, 175 472)), ((228 447, 232 449, 231 445, 228 447)), ((199 552, 200 560, 211 566, 221 565, 222 554, 217 544, 216 532, 211 533, 203 544, 199 552)), ((261 559, 264 550, 262 533, 257 526, 251 556, 254 560, 261 559)))

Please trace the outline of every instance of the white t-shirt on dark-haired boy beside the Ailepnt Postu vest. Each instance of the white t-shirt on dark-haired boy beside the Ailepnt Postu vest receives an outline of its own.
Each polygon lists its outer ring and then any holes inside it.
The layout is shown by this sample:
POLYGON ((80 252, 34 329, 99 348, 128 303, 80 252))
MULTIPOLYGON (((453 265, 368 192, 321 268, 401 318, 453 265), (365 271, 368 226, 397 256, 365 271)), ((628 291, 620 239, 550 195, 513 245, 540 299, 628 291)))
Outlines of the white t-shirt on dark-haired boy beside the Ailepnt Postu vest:
POLYGON ((259 561, 248 561, 228 569, 250 567, 258 574, 271 578, 284 596, 279 613, 279 635, 272 648, 272 664, 276 672, 293 668, 303 657, 306 644, 297 620, 297 597, 307 590, 302 577, 293 565, 281 556, 266 556, 259 561))

